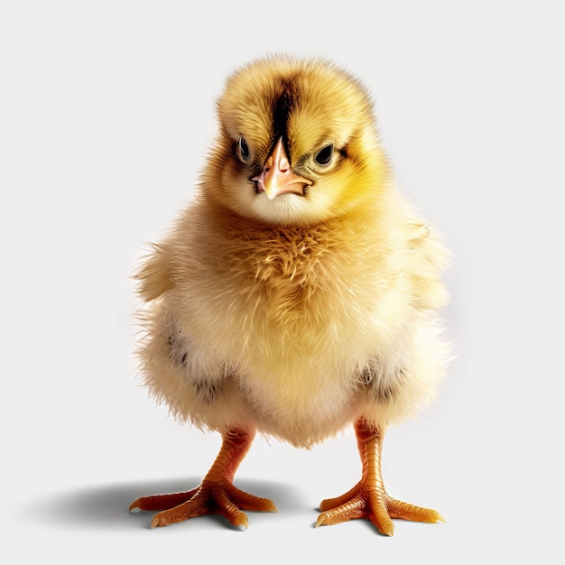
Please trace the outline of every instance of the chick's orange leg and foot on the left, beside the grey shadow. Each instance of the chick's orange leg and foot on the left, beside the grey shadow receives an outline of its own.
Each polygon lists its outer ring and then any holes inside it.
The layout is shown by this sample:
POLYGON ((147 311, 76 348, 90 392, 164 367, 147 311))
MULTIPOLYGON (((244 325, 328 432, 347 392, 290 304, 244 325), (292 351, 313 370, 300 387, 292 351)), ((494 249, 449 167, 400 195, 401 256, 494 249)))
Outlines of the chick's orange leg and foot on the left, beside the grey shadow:
POLYGON ((249 495, 233 485, 236 469, 254 436, 255 432, 244 430, 224 434, 218 457, 200 486, 185 493, 142 496, 130 505, 130 511, 161 511, 153 516, 152 528, 205 514, 219 514, 242 530, 247 528, 247 516, 240 508, 276 512, 270 500, 249 495))

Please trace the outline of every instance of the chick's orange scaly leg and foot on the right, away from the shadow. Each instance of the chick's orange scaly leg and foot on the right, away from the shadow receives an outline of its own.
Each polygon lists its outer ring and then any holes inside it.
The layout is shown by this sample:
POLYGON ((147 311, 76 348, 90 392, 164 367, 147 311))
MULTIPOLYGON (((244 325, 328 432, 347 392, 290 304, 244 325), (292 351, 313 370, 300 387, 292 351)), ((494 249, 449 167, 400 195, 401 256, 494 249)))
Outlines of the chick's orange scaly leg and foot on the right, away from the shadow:
POLYGON ((356 422, 357 448, 363 463, 361 480, 345 495, 322 500, 316 527, 368 518, 377 530, 393 535, 394 518, 416 522, 445 522, 441 514, 430 508, 409 505, 388 496, 381 475, 383 434, 361 419, 356 422))

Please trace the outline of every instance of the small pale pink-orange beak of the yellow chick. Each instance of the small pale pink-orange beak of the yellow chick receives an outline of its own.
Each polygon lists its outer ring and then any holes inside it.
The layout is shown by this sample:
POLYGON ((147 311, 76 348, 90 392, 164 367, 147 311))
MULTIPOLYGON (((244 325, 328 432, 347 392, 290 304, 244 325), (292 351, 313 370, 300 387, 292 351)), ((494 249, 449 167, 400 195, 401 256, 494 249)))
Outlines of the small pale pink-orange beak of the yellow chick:
POLYGON ((251 180, 257 182, 257 190, 264 192, 270 200, 280 194, 304 196, 304 189, 312 184, 312 181, 292 172, 282 137, 273 149, 273 153, 264 162, 261 174, 251 180))

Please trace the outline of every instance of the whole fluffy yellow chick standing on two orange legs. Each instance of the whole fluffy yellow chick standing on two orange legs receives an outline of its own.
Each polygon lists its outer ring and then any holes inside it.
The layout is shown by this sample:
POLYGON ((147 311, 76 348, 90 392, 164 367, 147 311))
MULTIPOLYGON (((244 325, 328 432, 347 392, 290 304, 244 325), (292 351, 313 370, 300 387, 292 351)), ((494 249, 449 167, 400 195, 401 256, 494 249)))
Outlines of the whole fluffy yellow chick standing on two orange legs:
POLYGON ((198 197, 137 278, 145 384, 222 447, 200 486, 130 510, 245 529, 243 510, 276 510, 233 484, 256 431, 310 448, 352 425, 361 479, 317 525, 442 521, 381 476, 387 426, 444 373, 447 254, 394 184, 365 88, 327 61, 267 57, 227 79, 218 121, 198 197))

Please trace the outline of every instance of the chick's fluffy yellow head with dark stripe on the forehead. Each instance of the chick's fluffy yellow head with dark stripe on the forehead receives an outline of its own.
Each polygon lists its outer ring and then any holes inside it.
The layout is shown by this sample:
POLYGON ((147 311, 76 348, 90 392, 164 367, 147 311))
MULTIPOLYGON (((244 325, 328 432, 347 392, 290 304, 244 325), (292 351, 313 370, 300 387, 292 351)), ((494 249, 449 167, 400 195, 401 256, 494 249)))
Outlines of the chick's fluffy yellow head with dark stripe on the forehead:
POLYGON ((218 119, 205 190, 241 216, 308 225, 366 206, 384 186, 372 102, 329 62, 278 56, 237 69, 218 119))

